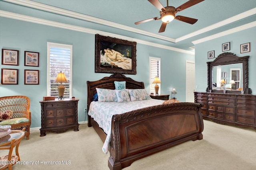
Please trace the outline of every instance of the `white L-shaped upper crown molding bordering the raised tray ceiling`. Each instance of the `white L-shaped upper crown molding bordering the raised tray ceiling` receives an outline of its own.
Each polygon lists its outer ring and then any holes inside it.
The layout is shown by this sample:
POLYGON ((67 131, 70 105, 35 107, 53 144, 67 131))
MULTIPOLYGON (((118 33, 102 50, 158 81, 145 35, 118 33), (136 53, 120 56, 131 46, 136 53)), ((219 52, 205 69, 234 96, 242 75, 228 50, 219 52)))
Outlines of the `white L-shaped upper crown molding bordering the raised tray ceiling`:
POLYGON ((148 32, 148 31, 144 31, 142 29, 137 29, 137 28, 129 27, 129 26, 122 25, 122 24, 119 24, 119 23, 102 20, 100 18, 88 16, 88 15, 85 15, 85 14, 80 14, 78 12, 72 12, 72 11, 69 11, 69 10, 64 10, 64 9, 57 8, 57 7, 54 7, 54 6, 42 4, 42 3, 39 3, 39 2, 34 2, 34 1, 31 1, 31 0, 4 0, 4 1, 11 2, 11 3, 14 3, 14 4, 19 4, 19 5, 22 5, 22 6, 27 6, 27 7, 30 7, 30 8, 36 8, 36 9, 39 9, 39 10, 44 10, 44 11, 60 14, 60 15, 63 15, 63 16, 69 16, 69 17, 72 17, 72 18, 80 19, 80 20, 99 23, 99 24, 102 24, 102 25, 107 25, 107 26, 110 26, 110 27, 115 27, 115 28, 118 28, 118 29, 123 29, 123 30, 126 30, 126 31, 134 32, 134 33, 139 33, 139 34, 146 35, 146 36, 149 36, 149 37, 162 39, 164 41, 169 41, 169 42, 172 42, 172 43, 178 43, 178 42, 183 41, 185 39, 194 37, 196 35, 200 35, 200 34, 205 33, 207 31, 216 29, 218 27, 222 27, 222 26, 227 25, 229 23, 232 23, 234 21, 238 21, 238 20, 241 20, 241 19, 246 18, 248 16, 256 14, 256 8, 253 8, 251 10, 248 10, 246 12, 243 12, 241 14, 238 14, 238 15, 233 16, 231 18, 228 18, 226 20, 220 21, 218 23, 215 23, 213 25, 210 25, 208 27, 200 29, 198 31, 195 31, 195 32, 189 33, 187 35, 184 35, 182 37, 179 37, 177 39, 174 39, 174 38, 171 38, 171 37, 166 37, 166 36, 159 35, 159 34, 156 34, 156 33, 151 33, 151 32, 148 32))

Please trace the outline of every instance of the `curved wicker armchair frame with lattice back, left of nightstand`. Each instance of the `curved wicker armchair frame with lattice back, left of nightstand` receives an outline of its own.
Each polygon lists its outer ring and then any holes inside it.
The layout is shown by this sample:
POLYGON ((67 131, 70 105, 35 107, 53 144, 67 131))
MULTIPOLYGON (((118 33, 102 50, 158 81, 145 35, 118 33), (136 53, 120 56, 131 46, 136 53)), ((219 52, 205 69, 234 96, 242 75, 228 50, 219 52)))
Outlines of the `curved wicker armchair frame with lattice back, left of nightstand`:
POLYGON ((22 130, 25 127, 26 130, 25 130, 24 136, 26 136, 27 140, 29 139, 30 125, 31 125, 31 112, 29 108, 30 108, 30 99, 26 96, 0 97, 0 111, 2 112, 6 110, 13 111, 11 119, 19 118, 19 117, 28 119, 28 121, 23 123, 9 124, 12 126, 11 127, 12 130, 22 130))

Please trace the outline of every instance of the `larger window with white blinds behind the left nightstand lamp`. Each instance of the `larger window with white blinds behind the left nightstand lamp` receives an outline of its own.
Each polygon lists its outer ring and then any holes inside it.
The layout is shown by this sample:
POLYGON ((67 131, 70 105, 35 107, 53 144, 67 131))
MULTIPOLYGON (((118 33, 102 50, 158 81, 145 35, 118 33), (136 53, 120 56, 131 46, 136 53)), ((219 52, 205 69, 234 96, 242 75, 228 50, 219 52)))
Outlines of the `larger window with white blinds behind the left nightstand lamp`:
POLYGON ((55 79, 60 71, 68 80, 68 83, 62 83, 65 86, 64 98, 72 96, 72 48, 72 45, 47 43, 47 96, 58 97, 55 79))

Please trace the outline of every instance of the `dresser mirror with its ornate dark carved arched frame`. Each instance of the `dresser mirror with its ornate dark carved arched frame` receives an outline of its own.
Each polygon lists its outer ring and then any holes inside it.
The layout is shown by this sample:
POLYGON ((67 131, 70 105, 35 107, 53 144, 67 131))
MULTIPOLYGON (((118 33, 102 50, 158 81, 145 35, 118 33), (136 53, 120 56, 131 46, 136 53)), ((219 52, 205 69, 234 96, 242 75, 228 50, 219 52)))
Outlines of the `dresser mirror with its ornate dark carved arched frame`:
POLYGON ((206 92, 252 93, 248 88, 249 56, 237 57, 234 53, 222 53, 207 62, 208 88, 206 92))

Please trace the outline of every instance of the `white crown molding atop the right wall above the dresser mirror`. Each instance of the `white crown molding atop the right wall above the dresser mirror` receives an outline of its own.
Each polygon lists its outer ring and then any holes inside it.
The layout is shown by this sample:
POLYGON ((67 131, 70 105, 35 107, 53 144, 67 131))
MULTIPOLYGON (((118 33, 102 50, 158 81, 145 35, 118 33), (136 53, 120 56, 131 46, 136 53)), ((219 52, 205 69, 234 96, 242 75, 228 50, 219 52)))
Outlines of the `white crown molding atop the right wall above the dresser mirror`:
POLYGON ((208 37, 204 37, 204 38, 201 38, 201 39, 198 39, 196 41, 192 41, 192 43, 195 45, 195 44, 199 44, 199 43, 203 43, 205 41, 209 41, 209 40, 212 40, 212 39, 216 39, 218 37, 222 37, 222 36, 225 36, 225 35, 228 35, 228 34, 232 34, 232 33, 236 33, 238 31, 242 31, 244 29, 248 29, 248 28, 251 28, 251 27, 256 27, 256 21, 253 21, 253 22, 250 22, 250 23, 247 23, 247 24, 244 24, 244 25, 241 25, 239 27, 235 27, 235 28, 232 28, 232 29, 229 29, 229 30, 226 30, 226 31, 223 31, 223 32, 220 32, 220 33, 216 33, 214 35, 211 35, 211 36, 208 36, 208 37))

